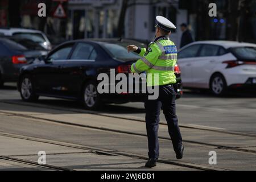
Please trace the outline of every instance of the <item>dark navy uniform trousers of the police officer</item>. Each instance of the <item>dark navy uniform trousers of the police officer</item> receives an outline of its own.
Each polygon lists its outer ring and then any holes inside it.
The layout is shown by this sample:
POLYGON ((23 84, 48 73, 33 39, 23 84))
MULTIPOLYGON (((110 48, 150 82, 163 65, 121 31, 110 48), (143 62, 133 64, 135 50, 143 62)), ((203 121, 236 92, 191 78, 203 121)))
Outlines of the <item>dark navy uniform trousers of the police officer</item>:
POLYGON ((168 131, 172 140, 174 151, 182 142, 178 119, 175 111, 176 92, 172 85, 159 86, 159 97, 156 100, 148 100, 146 97, 144 106, 146 109, 146 129, 148 139, 148 157, 158 159, 158 125, 161 108, 168 124, 168 131))

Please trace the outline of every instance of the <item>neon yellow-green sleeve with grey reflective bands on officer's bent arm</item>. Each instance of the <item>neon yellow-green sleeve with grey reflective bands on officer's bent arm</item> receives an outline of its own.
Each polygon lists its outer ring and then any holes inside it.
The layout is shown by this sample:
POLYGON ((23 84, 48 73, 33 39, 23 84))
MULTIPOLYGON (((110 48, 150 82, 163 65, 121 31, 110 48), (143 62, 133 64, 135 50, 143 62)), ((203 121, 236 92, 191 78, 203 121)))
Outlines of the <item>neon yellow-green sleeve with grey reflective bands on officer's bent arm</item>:
MULTIPOLYGON (((144 49, 144 51, 142 49, 141 52, 146 52, 146 49, 144 49)), ((148 52, 146 56, 142 57, 136 63, 131 65, 131 72, 141 73, 152 68, 155 65, 156 61, 158 60, 160 54, 160 50, 155 45, 152 45, 150 47, 150 52, 148 52)))

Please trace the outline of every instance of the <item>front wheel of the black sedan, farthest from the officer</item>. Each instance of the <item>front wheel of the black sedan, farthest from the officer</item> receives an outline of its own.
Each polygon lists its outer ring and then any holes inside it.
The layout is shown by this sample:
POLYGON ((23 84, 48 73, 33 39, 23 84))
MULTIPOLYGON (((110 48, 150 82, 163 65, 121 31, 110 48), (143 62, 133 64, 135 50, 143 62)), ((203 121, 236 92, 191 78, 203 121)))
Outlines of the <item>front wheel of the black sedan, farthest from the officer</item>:
POLYGON ((34 85, 30 76, 23 76, 20 81, 20 96, 23 101, 36 101, 39 96, 35 94, 34 85))

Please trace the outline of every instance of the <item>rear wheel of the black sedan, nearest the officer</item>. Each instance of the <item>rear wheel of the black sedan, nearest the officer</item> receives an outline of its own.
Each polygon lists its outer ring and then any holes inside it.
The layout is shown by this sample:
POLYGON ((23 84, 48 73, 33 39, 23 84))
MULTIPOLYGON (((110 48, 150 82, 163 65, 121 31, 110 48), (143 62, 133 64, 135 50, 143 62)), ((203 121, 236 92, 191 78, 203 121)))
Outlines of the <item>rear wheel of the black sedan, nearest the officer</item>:
POLYGON ((93 81, 85 84, 82 96, 86 109, 96 110, 100 108, 102 103, 97 92, 97 85, 93 81))

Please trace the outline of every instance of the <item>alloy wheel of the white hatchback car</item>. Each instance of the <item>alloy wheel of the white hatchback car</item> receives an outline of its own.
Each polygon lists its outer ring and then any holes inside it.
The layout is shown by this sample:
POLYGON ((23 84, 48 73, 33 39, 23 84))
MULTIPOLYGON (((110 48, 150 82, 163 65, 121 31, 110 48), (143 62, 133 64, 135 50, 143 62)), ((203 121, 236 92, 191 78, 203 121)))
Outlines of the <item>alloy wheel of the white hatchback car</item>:
POLYGON ((215 96, 224 96, 226 93, 226 81, 221 74, 213 75, 210 80, 210 90, 215 96))

